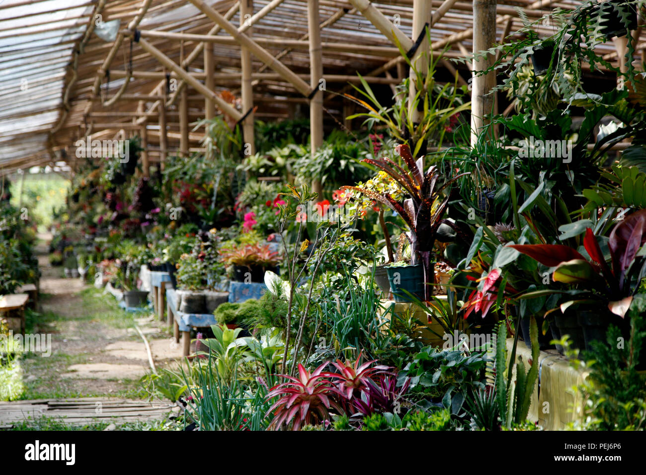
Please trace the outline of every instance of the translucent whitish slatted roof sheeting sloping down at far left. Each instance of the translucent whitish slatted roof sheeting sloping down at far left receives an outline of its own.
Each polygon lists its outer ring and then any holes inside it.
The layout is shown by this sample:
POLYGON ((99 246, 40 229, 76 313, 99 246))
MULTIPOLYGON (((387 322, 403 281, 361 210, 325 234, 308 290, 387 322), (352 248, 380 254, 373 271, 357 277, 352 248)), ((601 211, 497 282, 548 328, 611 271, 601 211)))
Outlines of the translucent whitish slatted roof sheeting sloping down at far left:
POLYGON ((59 119, 66 69, 93 4, 0 0, 0 171, 35 155, 52 160, 48 132, 59 119))

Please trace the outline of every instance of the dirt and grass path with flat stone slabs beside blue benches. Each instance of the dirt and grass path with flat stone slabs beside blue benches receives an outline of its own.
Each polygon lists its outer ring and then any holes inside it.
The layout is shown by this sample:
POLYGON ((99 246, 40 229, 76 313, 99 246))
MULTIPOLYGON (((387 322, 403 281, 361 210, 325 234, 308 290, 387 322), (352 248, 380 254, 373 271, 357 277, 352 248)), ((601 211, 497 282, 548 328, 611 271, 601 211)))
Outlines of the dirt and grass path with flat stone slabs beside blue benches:
POLYGON ((51 355, 28 354, 23 360, 25 399, 57 397, 145 397, 140 377, 150 372, 147 335, 156 364, 181 357, 169 334, 152 315, 126 313, 112 295, 66 279, 50 266, 48 235, 39 235, 41 317, 32 333, 51 335, 51 355))

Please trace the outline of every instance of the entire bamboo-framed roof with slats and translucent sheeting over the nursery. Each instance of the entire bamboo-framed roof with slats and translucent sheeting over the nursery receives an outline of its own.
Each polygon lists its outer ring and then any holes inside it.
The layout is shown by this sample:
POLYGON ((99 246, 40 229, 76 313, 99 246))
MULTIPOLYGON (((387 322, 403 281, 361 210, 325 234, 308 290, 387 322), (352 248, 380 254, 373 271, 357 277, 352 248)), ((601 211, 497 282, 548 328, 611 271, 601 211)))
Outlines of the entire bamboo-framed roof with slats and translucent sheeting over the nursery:
MULTIPOLYGON (((247 78, 252 80, 253 100, 248 92, 245 97, 247 105, 254 105, 256 117, 285 118, 293 105, 307 104, 319 95, 326 110, 340 117, 342 107, 332 104, 338 102, 337 96, 315 94, 311 54, 320 50, 322 78, 331 90, 348 90, 348 83, 357 81, 357 72, 370 83, 393 87, 401 79, 396 69, 402 62, 393 35, 404 48, 413 45, 415 3, 432 9, 435 54, 448 46, 444 56, 458 58, 473 48, 474 5, 468 0, 317 3, 320 28, 315 43, 320 39, 313 46, 307 0, 253 0, 247 7, 251 10, 245 10, 253 14, 244 18, 236 0, 3 0, 0 174, 25 164, 74 157, 74 142, 86 134, 110 136, 121 129, 145 131, 151 163, 160 154, 176 153, 182 137, 189 151, 200 150, 203 129, 186 136, 181 132, 186 126, 180 123, 182 117, 189 121, 205 117, 205 101, 213 101, 233 121, 249 113, 242 101, 231 104, 221 96, 224 91, 238 95, 243 85, 243 49, 251 52, 247 78), (107 42, 95 30, 98 21, 111 20, 119 20, 120 28, 116 39, 107 42), (205 45, 212 70, 204 67, 205 45), (25 76, 34 90, 22 94, 24 81, 7 74, 11 71, 25 76), (171 80, 174 90, 169 90, 171 80), (177 99, 186 87, 183 115, 177 99), (160 120, 165 123, 163 134, 160 120)), ((499 0, 495 36, 502 41, 522 26, 515 8, 538 19, 552 8, 572 9, 578 4, 577 0, 499 0)), ((552 32, 549 25, 541 29, 552 32)), ((639 50, 646 51, 646 34, 641 30, 638 34, 643 35, 639 50)), ((617 58, 611 42, 600 45, 599 52, 609 60, 617 58)), ((463 66, 449 61, 440 65, 450 76, 460 74, 461 83, 470 76, 463 66)))

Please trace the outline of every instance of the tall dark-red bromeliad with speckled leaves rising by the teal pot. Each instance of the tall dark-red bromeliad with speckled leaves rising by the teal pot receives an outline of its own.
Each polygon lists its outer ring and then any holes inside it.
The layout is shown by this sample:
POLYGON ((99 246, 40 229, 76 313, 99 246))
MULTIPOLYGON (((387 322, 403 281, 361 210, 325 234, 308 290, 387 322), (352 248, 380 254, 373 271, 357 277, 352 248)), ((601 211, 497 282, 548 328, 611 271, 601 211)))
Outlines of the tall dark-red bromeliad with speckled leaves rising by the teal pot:
MULTIPOLYGON (((448 206, 449 196, 448 193, 443 192, 452 182, 466 173, 458 174, 440 183, 441 176, 437 167, 433 165, 424 173, 424 158, 421 157, 417 161, 413 160, 408 145, 397 145, 395 150, 401 156, 406 169, 403 169, 389 158, 374 160, 367 158, 363 162, 375 165, 390 176, 391 180, 401 187, 402 196, 408 196, 403 202, 393 198, 388 191, 377 193, 356 186, 344 186, 342 189, 366 195, 368 198, 390 207, 402 217, 410 229, 410 234, 402 233, 410 240, 412 249, 412 262, 410 265, 421 265, 424 300, 428 301, 433 295, 433 285, 435 284, 435 262, 433 262, 432 254, 438 228, 441 224, 453 227, 450 221, 444 219, 444 211, 448 206)), ((400 263, 397 267, 402 268, 404 266, 400 263)), ((399 270, 401 271, 402 269, 399 270)), ((389 280, 393 272, 395 271, 389 270, 389 280)), ((406 271, 407 276, 409 273, 410 278, 419 276, 419 268, 406 271)))

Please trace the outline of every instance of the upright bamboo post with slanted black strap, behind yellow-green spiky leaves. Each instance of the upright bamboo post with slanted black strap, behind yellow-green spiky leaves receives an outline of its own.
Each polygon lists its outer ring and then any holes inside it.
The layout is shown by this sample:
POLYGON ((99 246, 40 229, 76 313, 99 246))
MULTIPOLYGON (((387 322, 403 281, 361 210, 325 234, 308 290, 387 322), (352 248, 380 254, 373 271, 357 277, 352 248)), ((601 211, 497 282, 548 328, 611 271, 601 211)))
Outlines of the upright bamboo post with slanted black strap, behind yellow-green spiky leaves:
MULTIPOLYGON (((424 33, 426 23, 428 23, 428 25, 431 24, 432 6, 432 0, 413 0, 413 43, 421 34, 424 33)), ((413 103, 415 94, 417 94, 417 87, 415 85, 417 75, 415 74, 415 70, 422 74, 425 74, 428 70, 428 41, 426 38, 422 39, 422 43, 417 48, 411 63, 413 68, 411 68, 408 73, 410 77, 410 87, 408 89, 408 115, 412 119, 413 125, 417 126, 421 120, 422 112, 420 107, 415 107, 415 103, 413 103)), ((422 103, 423 101, 420 100, 418 106, 421 106, 422 103)), ((414 149, 415 145, 415 143, 410 143, 411 149, 414 149)), ((426 146, 422 145, 419 154, 424 153, 426 153, 426 146)))

